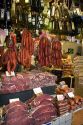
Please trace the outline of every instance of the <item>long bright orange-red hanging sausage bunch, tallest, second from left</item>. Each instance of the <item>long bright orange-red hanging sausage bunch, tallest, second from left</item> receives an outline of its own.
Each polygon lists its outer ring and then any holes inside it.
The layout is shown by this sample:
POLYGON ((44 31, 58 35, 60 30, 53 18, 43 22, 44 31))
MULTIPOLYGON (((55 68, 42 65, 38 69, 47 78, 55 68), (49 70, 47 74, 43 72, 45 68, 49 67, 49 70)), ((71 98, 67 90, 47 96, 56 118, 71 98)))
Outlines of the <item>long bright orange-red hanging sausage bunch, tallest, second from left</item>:
POLYGON ((31 33, 27 29, 24 29, 22 33, 21 49, 18 52, 18 62, 25 68, 30 68, 33 52, 34 41, 31 37, 31 33))

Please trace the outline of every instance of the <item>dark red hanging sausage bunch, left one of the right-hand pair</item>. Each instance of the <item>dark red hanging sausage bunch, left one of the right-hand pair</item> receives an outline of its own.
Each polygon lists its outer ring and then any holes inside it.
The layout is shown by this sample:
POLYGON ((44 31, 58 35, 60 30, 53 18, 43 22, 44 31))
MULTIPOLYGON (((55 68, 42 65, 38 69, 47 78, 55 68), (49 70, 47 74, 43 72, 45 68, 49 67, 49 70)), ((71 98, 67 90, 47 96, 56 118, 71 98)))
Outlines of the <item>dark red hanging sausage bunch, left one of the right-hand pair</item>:
POLYGON ((39 42, 38 59, 41 66, 50 66, 51 64, 51 42, 47 37, 41 38, 39 42))

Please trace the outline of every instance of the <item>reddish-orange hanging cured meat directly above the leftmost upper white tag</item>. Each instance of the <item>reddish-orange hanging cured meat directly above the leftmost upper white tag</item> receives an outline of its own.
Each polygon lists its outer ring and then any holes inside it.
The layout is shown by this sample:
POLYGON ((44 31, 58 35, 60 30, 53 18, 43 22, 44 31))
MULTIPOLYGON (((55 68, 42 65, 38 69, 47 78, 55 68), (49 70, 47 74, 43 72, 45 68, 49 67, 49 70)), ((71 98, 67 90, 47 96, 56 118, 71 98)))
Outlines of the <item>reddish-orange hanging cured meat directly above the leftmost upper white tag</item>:
POLYGON ((17 64, 17 53, 15 45, 16 45, 16 37, 14 36, 12 37, 11 35, 9 35, 6 38, 6 46, 8 49, 4 52, 2 57, 2 63, 3 65, 6 65, 7 71, 9 73, 15 70, 17 64))

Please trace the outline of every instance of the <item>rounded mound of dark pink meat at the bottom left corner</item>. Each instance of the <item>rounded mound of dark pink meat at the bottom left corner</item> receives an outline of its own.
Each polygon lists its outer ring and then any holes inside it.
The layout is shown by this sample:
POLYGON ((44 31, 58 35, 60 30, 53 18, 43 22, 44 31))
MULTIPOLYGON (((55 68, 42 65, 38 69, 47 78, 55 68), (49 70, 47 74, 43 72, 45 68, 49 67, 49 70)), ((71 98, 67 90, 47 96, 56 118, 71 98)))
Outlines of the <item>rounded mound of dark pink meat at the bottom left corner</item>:
POLYGON ((33 125, 33 118, 29 116, 26 104, 16 101, 5 108, 6 125, 33 125), (19 108, 18 108, 19 107, 19 108))

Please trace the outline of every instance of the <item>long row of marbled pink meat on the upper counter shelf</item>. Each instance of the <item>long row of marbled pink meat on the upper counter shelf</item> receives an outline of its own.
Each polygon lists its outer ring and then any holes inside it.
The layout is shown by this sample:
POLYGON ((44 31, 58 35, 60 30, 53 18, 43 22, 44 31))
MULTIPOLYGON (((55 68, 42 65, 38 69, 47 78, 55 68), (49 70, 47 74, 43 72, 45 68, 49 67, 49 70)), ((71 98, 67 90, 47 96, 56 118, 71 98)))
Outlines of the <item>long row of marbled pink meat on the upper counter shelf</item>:
POLYGON ((37 87, 54 86, 56 80, 57 76, 41 71, 18 73, 11 79, 2 75, 0 93, 15 93, 37 87))

